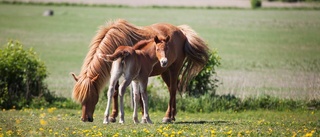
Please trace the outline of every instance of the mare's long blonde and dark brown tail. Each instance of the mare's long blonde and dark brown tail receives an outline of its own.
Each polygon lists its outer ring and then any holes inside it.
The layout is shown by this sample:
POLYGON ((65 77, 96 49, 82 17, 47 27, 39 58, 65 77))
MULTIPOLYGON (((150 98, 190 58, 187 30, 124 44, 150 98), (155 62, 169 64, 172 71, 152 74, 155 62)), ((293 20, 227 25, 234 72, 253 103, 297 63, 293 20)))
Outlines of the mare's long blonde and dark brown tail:
POLYGON ((187 38, 184 46, 186 59, 180 72, 181 77, 178 84, 179 90, 185 91, 189 81, 206 65, 209 59, 209 48, 204 40, 188 25, 180 25, 178 28, 187 38))

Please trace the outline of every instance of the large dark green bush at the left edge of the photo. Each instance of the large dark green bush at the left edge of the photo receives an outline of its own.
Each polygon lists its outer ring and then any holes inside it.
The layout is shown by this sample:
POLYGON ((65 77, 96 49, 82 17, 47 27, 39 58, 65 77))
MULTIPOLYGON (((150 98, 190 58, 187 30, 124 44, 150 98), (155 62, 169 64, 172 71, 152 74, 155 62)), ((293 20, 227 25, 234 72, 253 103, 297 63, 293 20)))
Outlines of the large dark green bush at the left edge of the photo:
POLYGON ((46 66, 19 42, 9 41, 0 49, 0 76, 0 108, 42 106, 53 99, 44 83, 46 66))

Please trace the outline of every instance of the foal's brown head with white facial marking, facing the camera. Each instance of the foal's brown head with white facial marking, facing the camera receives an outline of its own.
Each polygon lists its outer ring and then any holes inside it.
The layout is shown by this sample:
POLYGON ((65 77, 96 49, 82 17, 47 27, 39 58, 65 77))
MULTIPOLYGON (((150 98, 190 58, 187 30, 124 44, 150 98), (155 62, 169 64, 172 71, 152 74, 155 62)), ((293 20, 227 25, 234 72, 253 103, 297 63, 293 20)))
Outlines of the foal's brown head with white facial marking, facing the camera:
POLYGON ((160 61, 161 67, 166 67, 168 64, 168 41, 170 40, 170 36, 164 37, 154 37, 154 42, 156 43, 156 55, 158 60, 160 61))

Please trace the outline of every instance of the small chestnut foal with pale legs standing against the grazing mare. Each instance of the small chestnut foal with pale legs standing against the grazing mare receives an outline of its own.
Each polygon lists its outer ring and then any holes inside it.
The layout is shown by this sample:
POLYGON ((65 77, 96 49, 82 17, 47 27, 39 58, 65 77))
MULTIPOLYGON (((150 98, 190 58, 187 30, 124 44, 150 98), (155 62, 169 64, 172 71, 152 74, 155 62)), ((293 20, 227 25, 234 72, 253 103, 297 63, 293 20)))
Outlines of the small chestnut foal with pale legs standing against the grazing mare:
POLYGON ((108 89, 108 104, 105 111, 104 124, 109 123, 109 108, 111 104, 111 97, 115 90, 116 83, 119 81, 121 75, 124 75, 124 80, 120 84, 120 120, 119 123, 124 123, 124 105, 123 95, 126 88, 132 82, 133 96, 134 96, 134 109, 133 109, 133 121, 139 123, 137 114, 137 102, 140 101, 140 94, 142 95, 143 103, 143 117, 141 123, 152 124, 152 121, 148 114, 148 95, 147 85, 148 77, 152 72, 153 66, 160 61, 162 67, 167 64, 166 54, 167 44, 170 37, 142 40, 131 46, 119 46, 112 55, 99 54, 99 58, 113 62, 111 68, 111 77, 109 81, 108 89), (139 48, 142 47, 143 48, 139 48))

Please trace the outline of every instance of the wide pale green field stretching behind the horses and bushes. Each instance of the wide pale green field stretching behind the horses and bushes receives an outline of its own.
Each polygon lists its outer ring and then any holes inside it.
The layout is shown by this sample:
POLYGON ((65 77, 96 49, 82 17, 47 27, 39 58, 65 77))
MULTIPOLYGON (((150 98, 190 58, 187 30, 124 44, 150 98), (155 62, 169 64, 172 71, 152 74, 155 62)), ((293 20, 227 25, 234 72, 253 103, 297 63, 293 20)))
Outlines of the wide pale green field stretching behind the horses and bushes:
POLYGON ((264 94, 320 99, 320 12, 318 10, 244 10, 117 8, 0 4, 0 43, 20 40, 45 61, 51 91, 70 97, 91 38, 98 26, 124 18, 139 26, 157 22, 188 24, 222 65, 218 94, 264 94), (53 17, 42 12, 54 10, 53 17))

